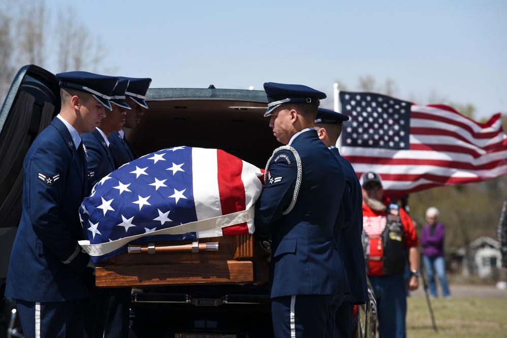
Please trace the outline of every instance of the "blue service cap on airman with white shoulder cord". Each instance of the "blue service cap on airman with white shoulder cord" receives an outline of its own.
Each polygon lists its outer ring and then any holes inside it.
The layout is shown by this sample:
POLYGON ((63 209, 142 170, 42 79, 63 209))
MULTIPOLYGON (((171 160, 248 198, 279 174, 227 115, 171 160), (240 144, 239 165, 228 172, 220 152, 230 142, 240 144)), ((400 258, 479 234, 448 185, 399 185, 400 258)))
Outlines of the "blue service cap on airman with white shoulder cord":
POLYGON ((286 85, 275 82, 264 83, 267 95, 267 110, 264 117, 271 116, 271 112, 283 103, 317 103, 325 99, 323 92, 303 85, 286 85))

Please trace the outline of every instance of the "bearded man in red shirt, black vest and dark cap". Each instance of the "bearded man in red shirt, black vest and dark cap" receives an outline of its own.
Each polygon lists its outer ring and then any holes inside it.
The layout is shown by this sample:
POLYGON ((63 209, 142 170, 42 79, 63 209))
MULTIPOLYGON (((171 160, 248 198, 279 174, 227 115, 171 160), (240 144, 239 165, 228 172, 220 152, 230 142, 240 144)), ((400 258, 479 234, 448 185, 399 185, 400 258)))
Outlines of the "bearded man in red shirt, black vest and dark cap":
POLYGON ((406 290, 419 287, 419 238, 407 212, 384 196, 379 174, 365 172, 360 183, 367 275, 377 299, 380 338, 404 338, 406 290), (404 280, 407 259, 408 285, 404 280))

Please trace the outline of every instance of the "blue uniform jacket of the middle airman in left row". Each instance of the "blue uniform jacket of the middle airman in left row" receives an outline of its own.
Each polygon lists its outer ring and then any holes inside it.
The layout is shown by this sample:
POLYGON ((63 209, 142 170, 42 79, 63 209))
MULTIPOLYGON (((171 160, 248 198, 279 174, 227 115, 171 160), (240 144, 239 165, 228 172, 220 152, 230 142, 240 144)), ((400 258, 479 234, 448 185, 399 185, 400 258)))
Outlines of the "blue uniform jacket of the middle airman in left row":
POLYGON ((91 133, 83 133, 81 137, 88 154, 88 180, 91 189, 100 179, 115 170, 115 162, 104 136, 96 128, 91 133))

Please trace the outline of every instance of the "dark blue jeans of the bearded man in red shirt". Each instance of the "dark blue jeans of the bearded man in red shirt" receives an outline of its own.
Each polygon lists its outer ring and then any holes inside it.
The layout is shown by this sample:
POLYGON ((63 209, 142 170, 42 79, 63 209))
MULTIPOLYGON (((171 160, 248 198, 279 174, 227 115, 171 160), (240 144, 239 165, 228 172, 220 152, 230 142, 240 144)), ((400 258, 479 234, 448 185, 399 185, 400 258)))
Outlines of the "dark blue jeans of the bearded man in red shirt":
POLYGON ((405 338, 407 288, 403 274, 368 278, 377 299, 380 338, 405 338))

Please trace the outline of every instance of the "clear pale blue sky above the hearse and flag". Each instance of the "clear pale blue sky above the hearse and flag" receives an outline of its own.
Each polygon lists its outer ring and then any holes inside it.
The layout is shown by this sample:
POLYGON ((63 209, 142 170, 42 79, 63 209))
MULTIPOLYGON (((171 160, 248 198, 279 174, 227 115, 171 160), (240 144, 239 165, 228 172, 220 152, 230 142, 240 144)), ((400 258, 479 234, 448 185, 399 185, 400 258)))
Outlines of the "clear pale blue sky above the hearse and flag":
MULTIPOLYGON (((264 82, 327 93, 359 77, 395 82, 396 97, 473 104, 476 118, 507 113, 507 2, 47 0, 72 6, 107 45, 111 75, 152 88, 262 90, 264 82)), ((58 72, 57 66, 49 69, 58 72)), ((86 70, 86 69, 81 69, 86 70)))

